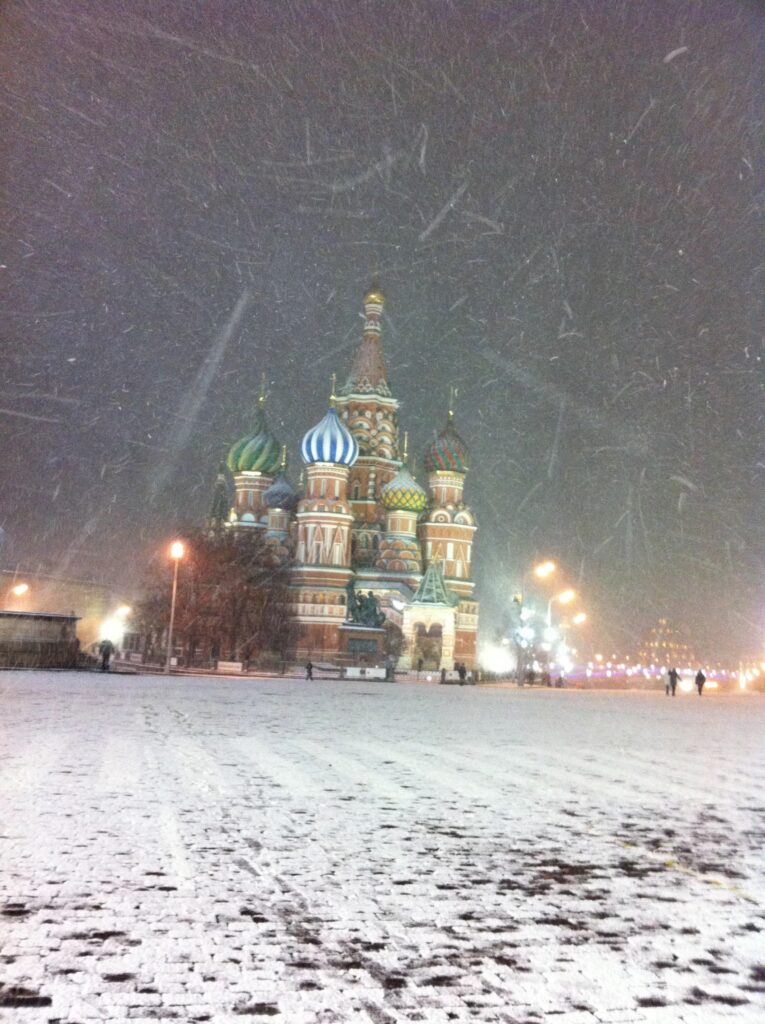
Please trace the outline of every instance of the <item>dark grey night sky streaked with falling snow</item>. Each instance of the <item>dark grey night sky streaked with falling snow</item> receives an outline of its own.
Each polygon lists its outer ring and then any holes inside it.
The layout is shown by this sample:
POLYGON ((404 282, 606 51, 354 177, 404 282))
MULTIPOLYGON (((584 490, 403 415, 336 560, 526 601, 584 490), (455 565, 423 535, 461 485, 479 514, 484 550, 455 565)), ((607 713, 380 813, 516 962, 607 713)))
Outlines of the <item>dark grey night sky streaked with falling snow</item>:
POLYGON ((765 6, 44 0, 0 10, 6 563, 129 585, 387 296, 421 452, 459 388, 476 577, 595 644, 762 644, 765 6))

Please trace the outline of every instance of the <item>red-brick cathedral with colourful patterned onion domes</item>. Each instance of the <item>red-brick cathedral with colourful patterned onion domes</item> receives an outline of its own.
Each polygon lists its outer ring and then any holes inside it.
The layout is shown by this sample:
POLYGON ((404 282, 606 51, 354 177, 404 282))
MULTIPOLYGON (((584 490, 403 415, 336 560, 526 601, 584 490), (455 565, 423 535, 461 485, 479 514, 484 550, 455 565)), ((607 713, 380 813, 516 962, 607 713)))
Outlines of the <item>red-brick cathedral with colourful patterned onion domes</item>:
MULTIPOLYGON (((261 389, 252 430, 228 452, 236 498, 221 473, 209 525, 261 530, 289 577, 297 659, 381 664, 391 632, 398 668, 475 665, 475 519, 463 489, 468 453, 449 409, 425 452, 425 489, 408 466, 380 337, 384 297, 364 300, 364 334, 345 384, 305 434, 305 485, 287 478, 261 389), (373 609, 373 618, 358 608, 373 609), (384 629, 381 628, 384 626, 384 629), (387 641, 387 643, 386 643, 387 641)), ((450 402, 451 407, 452 402, 450 402)))

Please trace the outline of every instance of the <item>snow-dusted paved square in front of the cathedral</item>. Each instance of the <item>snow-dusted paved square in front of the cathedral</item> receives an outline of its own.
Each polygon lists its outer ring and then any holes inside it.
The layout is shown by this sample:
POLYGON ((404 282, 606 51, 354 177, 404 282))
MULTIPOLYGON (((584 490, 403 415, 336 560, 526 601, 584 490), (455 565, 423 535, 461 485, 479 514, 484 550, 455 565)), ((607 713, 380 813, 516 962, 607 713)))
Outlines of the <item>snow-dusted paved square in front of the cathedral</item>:
POLYGON ((0 677, 0 1020, 765 1019, 765 698, 0 677))

